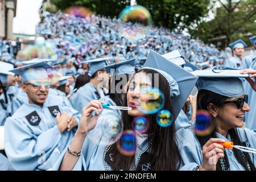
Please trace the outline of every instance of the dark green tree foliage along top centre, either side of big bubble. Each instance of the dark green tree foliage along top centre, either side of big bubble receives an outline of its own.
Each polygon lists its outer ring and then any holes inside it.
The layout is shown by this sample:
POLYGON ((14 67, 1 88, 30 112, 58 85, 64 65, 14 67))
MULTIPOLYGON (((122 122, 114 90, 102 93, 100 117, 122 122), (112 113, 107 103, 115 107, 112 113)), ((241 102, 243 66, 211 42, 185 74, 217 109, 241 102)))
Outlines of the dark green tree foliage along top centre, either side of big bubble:
MULTIPOLYGON (((130 1, 127 0, 51 0, 51 2, 60 10, 80 5, 96 14, 112 18, 130 5, 130 1)), ((155 25, 181 31, 192 23, 199 22, 201 17, 208 13, 209 2, 210 0, 137 0, 138 5, 150 11, 155 25)))

